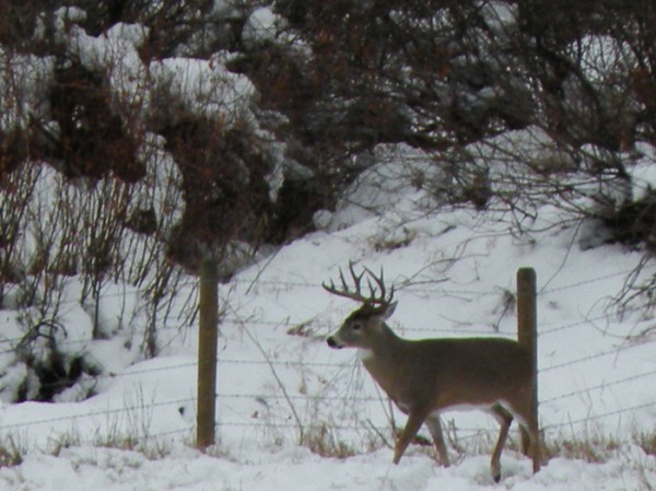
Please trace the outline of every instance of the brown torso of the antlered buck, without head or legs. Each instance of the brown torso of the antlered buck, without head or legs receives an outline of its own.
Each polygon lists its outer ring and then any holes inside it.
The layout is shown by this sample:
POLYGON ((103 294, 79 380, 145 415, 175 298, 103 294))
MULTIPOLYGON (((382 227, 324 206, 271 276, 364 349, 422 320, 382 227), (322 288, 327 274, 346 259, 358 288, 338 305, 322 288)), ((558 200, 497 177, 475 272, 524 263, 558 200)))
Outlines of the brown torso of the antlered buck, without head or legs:
POLYGON ((515 341, 395 338, 395 349, 372 349, 363 364, 401 409, 418 404, 430 406, 431 412, 462 406, 485 408, 494 404, 516 407, 530 389, 527 385, 530 355, 515 341), (500 360, 504 360, 504 369, 515 370, 502 370, 500 360), (527 379, 522 374, 526 374, 527 379), (495 383, 489 384, 490 378, 495 383), (457 381, 457 385, 453 381, 457 381))

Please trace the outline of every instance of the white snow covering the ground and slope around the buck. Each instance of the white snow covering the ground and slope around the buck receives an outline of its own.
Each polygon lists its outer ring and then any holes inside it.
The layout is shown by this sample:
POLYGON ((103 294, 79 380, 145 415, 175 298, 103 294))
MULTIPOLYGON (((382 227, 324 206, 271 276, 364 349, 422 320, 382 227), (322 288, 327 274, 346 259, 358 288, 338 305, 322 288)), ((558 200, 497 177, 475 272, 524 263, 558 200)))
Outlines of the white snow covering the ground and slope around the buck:
MULTIPOLYGON (((550 226, 558 210, 542 209, 520 234, 501 213, 427 213, 424 191, 385 183, 398 186, 378 196, 378 187, 354 188, 320 218, 325 230, 221 287, 215 448, 190 445, 196 330, 161 326, 163 353, 154 360, 134 363, 120 336, 85 344, 106 367, 93 398, 0 408, 4 447, 25 453, 0 469, 0 490, 654 489, 656 457, 636 441, 655 430, 655 320, 640 301, 621 316, 611 307, 641 254, 618 245, 582 250, 579 229, 550 226), (516 271, 534 267, 544 439, 589 442, 601 461, 558 457, 532 476, 528 459, 506 448, 494 484, 495 421, 454 412, 444 421, 455 465, 438 467, 433 449, 417 445, 390 465, 389 421, 400 425, 405 417, 390 412, 354 352, 324 341, 355 304, 320 283, 350 259, 385 268, 399 301, 389 324, 409 338, 515 337, 516 271), (301 437, 311 444, 298 445, 301 437), (142 452, 106 447, 128 443, 142 452)), ((107 322, 116 302, 108 295, 107 322)), ((89 322, 75 312, 66 318, 71 330, 89 322)), ((10 314, 2 323, 11 325, 10 314)))

